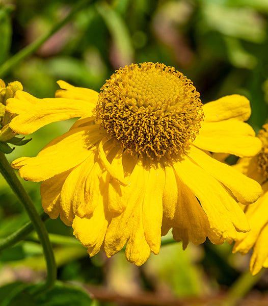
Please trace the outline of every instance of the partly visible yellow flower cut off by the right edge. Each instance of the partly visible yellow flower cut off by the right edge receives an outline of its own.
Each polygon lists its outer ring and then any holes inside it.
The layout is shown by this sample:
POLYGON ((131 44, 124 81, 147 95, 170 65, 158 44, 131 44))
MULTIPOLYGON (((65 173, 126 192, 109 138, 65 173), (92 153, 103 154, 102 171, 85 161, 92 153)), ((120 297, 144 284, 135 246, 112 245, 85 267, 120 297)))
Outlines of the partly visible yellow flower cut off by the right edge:
POLYGON ((246 254, 253 248, 250 271, 257 274, 262 267, 268 268, 268 124, 264 124, 258 133, 262 142, 259 154, 253 158, 242 158, 235 168, 258 181, 262 186, 262 195, 253 204, 245 207, 251 231, 240 233, 235 239, 233 252, 246 254))

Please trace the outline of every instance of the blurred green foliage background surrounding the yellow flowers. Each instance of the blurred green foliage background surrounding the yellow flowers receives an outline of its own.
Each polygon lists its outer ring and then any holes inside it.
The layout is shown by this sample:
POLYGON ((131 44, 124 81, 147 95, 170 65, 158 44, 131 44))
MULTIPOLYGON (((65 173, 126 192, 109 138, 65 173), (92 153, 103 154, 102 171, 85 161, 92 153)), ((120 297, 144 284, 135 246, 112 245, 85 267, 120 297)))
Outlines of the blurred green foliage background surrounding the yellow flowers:
MULTIPOLYGON (((0 64, 47 33, 73 5, 70 0, 2 1, 0 64)), ((11 67, 4 80, 20 81, 24 90, 37 97, 52 97, 59 79, 98 91, 121 66, 161 62, 190 78, 203 103, 233 93, 246 95, 252 107, 249 122, 258 131, 268 117, 267 17, 268 0, 94 1, 34 54, 11 67)), ((72 122, 43 127, 32 135, 30 143, 8 155, 9 160, 36 155, 51 139, 67 131, 72 122)), ((41 212, 39 184, 23 185, 41 212)), ((2 178, 0 202, 0 236, 6 237, 28 217, 2 178)), ((123 288, 124 293, 140 297, 140 304, 146 300, 146 290, 157 294, 155 302, 162 296, 163 305, 172 304, 170 299, 165 300, 167 296, 215 296, 228 290, 248 269, 249 257, 232 255, 227 243, 217 247, 208 242, 199 247, 190 245, 185 251, 180 244, 163 246, 158 256, 151 255, 140 268, 127 263, 121 253, 109 260, 103 253, 89 259, 86 249, 72 238, 71 228, 60 220, 49 220, 46 226, 55 235, 51 235, 51 241, 61 281, 98 285, 114 293, 122 293, 123 288), (59 235, 67 240, 58 239, 59 235)), ((30 300, 25 285, 44 277, 45 262, 35 236, 3 251, 0 261, 0 284, 11 283, 0 288, 0 296, 7 296, 0 306, 18 301, 22 305, 24 300, 26 305, 36 305, 37 300, 30 300)), ((255 289, 263 291, 265 282, 262 278, 255 289)), ((50 298, 46 303, 47 297, 40 296, 38 305, 90 303, 76 287, 68 289, 69 295, 64 288, 57 285, 51 292, 56 297, 53 301, 50 298)), ((94 290, 89 288, 100 298, 94 290)), ((110 294, 110 299, 114 302, 94 303, 118 305, 116 295, 110 294)))

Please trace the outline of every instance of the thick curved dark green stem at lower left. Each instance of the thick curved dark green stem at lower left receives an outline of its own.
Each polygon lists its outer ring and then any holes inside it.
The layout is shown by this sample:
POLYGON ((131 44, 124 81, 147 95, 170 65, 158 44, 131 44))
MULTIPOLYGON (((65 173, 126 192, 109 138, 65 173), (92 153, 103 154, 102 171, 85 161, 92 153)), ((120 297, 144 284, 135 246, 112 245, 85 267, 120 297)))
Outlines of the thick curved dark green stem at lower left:
POLYGON ((3 174, 13 192, 20 199, 24 209, 28 213, 29 218, 33 223, 33 226, 43 247, 44 257, 46 260, 47 277, 45 284, 38 287, 34 293, 37 294, 40 292, 48 291, 53 288, 56 282, 57 266, 44 222, 41 220, 30 196, 28 193, 26 193, 18 177, 16 176, 15 171, 2 152, 0 152, 0 172, 3 174))

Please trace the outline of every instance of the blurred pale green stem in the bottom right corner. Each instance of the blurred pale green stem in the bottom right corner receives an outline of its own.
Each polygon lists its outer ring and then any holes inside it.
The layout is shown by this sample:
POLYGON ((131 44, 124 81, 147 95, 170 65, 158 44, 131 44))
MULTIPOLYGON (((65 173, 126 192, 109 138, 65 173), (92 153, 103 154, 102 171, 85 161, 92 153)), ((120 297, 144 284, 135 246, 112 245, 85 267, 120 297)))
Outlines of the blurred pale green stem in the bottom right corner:
POLYGON ((246 271, 236 280, 228 292, 222 306, 235 306, 238 301, 245 297, 245 295, 253 288, 255 284, 259 281, 263 273, 262 269, 257 275, 252 275, 250 271, 246 271))

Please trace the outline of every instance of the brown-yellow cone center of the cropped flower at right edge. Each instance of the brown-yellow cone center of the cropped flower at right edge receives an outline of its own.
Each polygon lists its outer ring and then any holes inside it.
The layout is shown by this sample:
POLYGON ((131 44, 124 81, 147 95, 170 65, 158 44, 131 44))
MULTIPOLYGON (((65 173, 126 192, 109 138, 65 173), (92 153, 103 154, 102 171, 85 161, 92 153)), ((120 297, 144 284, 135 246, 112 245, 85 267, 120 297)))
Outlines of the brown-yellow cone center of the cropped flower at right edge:
POLYGON ((258 158, 258 171, 265 179, 268 179, 268 123, 262 126, 257 137, 262 142, 262 148, 257 155, 258 158))

